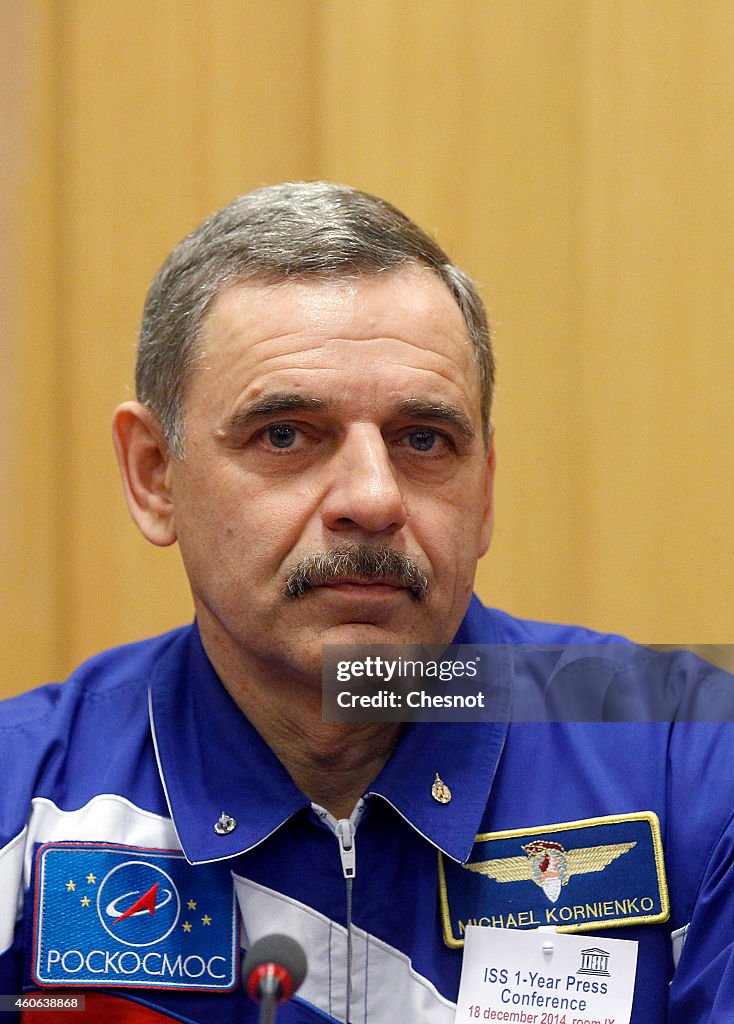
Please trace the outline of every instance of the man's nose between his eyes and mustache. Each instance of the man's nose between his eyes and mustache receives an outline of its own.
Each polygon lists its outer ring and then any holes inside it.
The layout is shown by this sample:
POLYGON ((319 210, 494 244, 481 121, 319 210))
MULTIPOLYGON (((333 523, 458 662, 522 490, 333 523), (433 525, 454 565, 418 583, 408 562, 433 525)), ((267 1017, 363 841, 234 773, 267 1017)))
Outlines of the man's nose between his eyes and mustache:
POLYGON ((390 536, 405 524, 400 482, 379 428, 354 425, 334 453, 329 471, 321 505, 328 529, 390 536))

